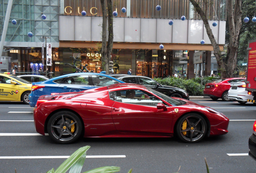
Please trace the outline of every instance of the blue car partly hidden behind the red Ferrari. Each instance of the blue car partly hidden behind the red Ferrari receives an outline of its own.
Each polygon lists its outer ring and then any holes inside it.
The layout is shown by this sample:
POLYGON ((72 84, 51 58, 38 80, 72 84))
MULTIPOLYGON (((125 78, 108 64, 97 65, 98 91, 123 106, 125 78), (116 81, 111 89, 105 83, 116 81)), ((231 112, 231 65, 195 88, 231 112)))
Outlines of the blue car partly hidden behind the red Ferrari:
POLYGON ((43 82, 33 82, 29 105, 35 107, 37 99, 41 95, 52 93, 79 92, 97 87, 104 87, 111 84, 125 83, 107 74, 101 73, 72 73, 58 76, 43 82))

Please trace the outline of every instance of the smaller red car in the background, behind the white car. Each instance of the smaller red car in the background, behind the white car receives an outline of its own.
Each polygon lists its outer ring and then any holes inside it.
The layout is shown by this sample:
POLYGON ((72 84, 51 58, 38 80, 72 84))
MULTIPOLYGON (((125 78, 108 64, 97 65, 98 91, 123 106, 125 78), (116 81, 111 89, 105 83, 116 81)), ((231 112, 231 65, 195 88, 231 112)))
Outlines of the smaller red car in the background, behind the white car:
POLYGON ((230 82, 239 82, 246 78, 223 78, 215 80, 211 83, 206 83, 204 95, 210 96, 211 99, 218 100, 221 98, 223 101, 229 101, 228 91, 230 89, 230 82))

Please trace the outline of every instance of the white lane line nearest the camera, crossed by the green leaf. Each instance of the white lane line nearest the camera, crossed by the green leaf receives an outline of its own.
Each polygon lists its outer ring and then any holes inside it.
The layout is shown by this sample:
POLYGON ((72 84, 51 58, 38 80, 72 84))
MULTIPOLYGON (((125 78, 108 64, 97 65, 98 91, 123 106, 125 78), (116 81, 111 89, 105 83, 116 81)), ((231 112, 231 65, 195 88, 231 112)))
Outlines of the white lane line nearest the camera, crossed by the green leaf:
MULTIPOLYGON (((2 156, 0 159, 66 159, 70 156, 2 156)), ((125 158, 126 155, 91 155, 86 158, 125 158)))

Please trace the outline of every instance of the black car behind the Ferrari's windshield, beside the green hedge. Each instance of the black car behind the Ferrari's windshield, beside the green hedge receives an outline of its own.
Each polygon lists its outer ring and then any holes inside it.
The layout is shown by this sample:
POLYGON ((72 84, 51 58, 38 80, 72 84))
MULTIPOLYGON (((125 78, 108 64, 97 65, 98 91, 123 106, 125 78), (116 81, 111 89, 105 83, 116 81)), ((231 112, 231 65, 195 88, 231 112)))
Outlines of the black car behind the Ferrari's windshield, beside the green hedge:
MULTIPOLYGON (((112 76, 112 75, 111 75, 112 76)), ((146 87, 155 89, 165 95, 170 97, 179 97, 183 99, 189 100, 188 93, 180 88, 171 87, 167 85, 161 85, 157 81, 149 78, 147 76, 131 76, 131 75, 120 75, 120 76, 113 76, 119 80, 122 80, 126 83, 135 83, 135 84, 142 84, 146 87)))

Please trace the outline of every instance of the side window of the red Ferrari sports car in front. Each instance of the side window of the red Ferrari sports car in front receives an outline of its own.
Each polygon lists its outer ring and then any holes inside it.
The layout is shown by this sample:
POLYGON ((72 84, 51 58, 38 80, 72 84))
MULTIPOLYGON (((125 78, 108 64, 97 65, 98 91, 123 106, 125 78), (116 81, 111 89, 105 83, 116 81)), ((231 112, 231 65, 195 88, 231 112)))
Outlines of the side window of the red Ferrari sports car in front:
POLYGON ((111 91, 109 92, 109 98, 117 102, 143 106, 156 107, 158 103, 163 103, 157 97, 142 90, 111 91))

